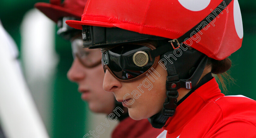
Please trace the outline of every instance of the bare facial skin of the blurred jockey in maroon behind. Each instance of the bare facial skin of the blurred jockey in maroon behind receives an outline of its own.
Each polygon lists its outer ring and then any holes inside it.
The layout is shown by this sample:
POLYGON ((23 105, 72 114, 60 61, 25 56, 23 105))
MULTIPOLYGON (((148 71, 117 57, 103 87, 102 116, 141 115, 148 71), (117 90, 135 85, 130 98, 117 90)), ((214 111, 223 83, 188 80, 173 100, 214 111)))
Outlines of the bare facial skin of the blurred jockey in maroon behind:
MULTIPOLYGON (((90 52, 90 49, 85 50, 90 52)), ((97 53, 101 57, 100 49, 97 53)), ((105 114, 113 112, 114 96, 112 93, 106 93, 102 88, 104 71, 101 64, 87 68, 75 58, 67 77, 78 84, 78 91, 82 94, 81 98, 88 102, 91 111, 105 114)))

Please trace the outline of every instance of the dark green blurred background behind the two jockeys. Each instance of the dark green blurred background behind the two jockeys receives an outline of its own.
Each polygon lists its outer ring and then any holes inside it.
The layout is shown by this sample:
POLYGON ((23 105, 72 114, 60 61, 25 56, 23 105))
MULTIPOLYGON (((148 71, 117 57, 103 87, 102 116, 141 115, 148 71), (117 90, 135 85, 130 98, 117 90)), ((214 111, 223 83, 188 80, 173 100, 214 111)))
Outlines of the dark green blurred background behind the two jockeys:
MULTIPOLYGON (((36 2, 48 0, 1 0, 0 19, 4 28, 13 37, 20 50, 20 25, 24 14, 34 8, 36 2)), ((244 26, 242 47, 230 56, 233 66, 230 75, 236 80, 228 88, 227 95, 244 95, 256 99, 256 1, 238 0, 244 26)), ((56 32, 56 31, 55 31, 56 32)), ((71 66, 73 57, 68 41, 61 39, 55 33, 55 51, 58 55, 56 71, 52 76, 52 84, 48 86, 52 94, 51 121, 46 123, 50 137, 80 137, 88 132, 88 123, 85 121, 88 109, 87 104, 80 99, 77 85, 70 82, 66 73, 71 66)), ((47 40, 46 40, 47 41, 47 40)), ((36 45, 35 45, 36 46, 36 45)), ((36 102, 36 101, 35 101, 36 102)), ((37 102, 36 102, 37 103, 37 102)), ((40 111, 39 111, 40 112, 40 111)))

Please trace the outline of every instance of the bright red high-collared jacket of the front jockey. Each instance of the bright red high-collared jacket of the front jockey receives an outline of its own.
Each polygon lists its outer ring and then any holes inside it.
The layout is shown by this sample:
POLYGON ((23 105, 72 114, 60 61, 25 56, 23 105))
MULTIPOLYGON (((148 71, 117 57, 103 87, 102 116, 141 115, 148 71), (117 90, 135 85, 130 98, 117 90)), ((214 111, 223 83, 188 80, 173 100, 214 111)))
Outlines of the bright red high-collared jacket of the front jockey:
POLYGON ((215 78, 176 108, 157 138, 256 138, 256 101, 224 96, 215 78))

